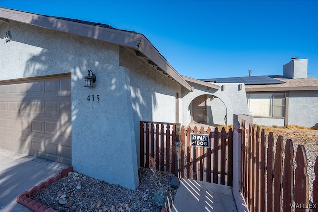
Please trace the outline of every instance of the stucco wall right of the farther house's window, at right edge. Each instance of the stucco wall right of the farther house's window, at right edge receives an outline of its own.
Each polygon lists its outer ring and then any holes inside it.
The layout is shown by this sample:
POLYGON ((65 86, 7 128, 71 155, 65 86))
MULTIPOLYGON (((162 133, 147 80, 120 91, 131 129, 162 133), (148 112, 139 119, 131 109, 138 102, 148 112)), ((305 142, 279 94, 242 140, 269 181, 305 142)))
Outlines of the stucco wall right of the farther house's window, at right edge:
POLYGON ((291 91, 288 102, 288 125, 318 126, 318 91, 291 91))

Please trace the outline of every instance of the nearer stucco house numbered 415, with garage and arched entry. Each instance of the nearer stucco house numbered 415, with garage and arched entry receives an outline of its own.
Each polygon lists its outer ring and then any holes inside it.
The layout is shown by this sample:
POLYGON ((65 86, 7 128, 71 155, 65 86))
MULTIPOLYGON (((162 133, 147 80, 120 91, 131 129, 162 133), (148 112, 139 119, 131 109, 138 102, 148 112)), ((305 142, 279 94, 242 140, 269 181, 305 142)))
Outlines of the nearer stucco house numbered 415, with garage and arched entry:
POLYGON ((3 149, 136 189, 140 120, 231 124, 234 113, 248 114, 244 86, 181 76, 140 33, 0 8, 3 149))

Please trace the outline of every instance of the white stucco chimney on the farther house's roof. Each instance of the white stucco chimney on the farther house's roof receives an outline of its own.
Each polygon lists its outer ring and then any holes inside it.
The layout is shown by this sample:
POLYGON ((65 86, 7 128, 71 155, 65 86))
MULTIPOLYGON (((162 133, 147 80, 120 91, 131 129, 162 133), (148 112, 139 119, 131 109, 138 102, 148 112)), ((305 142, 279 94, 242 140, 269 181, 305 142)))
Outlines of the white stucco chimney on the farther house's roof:
POLYGON ((307 60, 293 57, 289 63, 283 66, 284 77, 290 79, 307 78, 307 60))

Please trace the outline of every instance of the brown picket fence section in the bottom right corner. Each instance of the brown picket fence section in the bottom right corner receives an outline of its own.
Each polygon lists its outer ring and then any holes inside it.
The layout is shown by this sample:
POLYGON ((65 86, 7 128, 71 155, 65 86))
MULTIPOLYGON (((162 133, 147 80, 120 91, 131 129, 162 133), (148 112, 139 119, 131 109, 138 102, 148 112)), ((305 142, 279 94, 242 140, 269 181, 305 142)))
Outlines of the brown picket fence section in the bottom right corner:
POLYGON ((296 151, 290 139, 278 136, 274 150, 274 136, 270 132, 267 143, 265 130, 242 122, 242 175, 241 191, 250 212, 318 212, 318 156, 315 163, 316 179, 313 182, 313 202, 309 202, 307 157, 303 145, 296 151), (248 136, 246 135, 246 132, 248 136), (283 157, 284 152, 284 157, 283 157))

